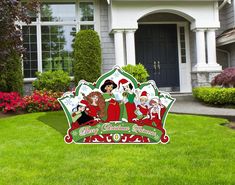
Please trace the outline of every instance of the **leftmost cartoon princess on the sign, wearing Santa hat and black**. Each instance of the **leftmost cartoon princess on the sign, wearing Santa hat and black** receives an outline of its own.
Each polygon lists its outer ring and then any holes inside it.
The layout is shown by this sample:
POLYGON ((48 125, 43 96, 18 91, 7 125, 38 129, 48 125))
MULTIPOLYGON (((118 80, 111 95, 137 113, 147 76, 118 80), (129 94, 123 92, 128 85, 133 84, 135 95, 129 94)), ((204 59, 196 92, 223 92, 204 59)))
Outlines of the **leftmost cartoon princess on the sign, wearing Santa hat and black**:
POLYGON ((81 100, 77 107, 74 108, 73 114, 72 114, 72 120, 73 123, 77 122, 79 125, 82 125, 84 123, 87 123, 91 120, 94 120, 92 116, 89 116, 87 113, 87 107, 89 106, 89 103, 86 100, 81 100))

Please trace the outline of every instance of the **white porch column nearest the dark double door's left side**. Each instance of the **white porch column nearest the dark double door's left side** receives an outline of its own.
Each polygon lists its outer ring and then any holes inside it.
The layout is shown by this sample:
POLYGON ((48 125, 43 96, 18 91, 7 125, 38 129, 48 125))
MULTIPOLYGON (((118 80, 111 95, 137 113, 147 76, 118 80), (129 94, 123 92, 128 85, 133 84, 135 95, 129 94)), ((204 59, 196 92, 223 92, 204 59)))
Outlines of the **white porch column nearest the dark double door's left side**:
POLYGON ((126 61, 135 65, 135 30, 126 30, 126 61))

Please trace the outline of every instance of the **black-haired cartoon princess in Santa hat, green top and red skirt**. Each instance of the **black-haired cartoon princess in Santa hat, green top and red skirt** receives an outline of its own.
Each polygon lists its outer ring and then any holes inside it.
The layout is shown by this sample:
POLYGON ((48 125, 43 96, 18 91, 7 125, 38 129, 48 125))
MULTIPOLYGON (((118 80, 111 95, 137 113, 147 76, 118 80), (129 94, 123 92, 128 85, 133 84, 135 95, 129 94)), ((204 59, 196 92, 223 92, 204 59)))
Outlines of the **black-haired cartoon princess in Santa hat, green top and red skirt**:
POLYGON ((123 88, 123 97, 127 99, 125 103, 126 106, 126 113, 128 117, 128 122, 133 122, 136 119, 136 105, 134 103, 134 99, 136 97, 135 93, 133 92, 133 85, 126 79, 121 79, 118 82, 119 89, 123 88))

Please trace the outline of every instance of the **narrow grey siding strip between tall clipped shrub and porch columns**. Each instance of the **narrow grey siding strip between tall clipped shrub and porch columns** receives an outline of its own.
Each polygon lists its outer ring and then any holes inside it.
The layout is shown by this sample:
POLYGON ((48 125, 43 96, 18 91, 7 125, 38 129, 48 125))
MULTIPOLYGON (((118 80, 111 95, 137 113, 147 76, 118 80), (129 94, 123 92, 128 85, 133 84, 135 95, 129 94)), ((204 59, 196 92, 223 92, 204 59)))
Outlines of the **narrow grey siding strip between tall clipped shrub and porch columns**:
POLYGON ((102 48, 102 72, 105 73, 115 65, 114 38, 109 30, 108 4, 100 1, 100 36, 102 48))

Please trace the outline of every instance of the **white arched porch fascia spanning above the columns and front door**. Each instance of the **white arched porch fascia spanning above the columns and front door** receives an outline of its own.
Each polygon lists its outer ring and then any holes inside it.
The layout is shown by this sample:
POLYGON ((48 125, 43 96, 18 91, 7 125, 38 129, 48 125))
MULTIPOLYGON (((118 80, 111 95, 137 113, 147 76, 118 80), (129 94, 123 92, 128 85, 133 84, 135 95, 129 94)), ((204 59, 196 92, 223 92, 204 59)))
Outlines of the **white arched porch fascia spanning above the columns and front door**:
POLYGON ((141 17, 150 13, 169 12, 182 16, 191 22, 191 29, 219 28, 219 14, 217 2, 190 3, 179 1, 112 1, 111 29, 137 29, 141 17), (127 19, 128 17, 128 19, 127 19))

